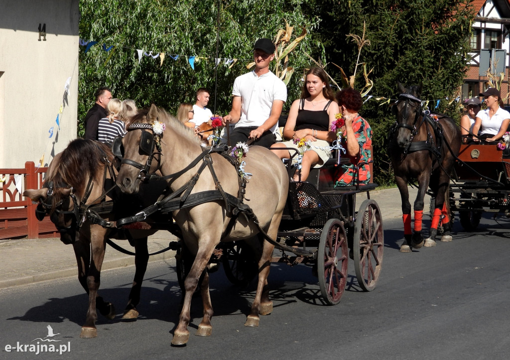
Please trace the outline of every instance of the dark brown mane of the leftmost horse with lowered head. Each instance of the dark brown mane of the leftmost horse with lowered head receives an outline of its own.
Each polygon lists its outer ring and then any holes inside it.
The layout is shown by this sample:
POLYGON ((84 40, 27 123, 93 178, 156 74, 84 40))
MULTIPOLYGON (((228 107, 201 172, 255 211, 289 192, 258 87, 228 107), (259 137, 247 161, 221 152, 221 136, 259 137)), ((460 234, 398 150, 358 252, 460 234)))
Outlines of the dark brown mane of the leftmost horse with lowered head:
POLYGON ((54 196, 53 205, 62 198, 58 188, 73 188, 73 192, 83 194, 88 178, 99 181, 99 174, 104 168, 103 152, 110 152, 109 147, 103 143, 91 140, 75 139, 62 151, 59 162, 49 174, 46 182, 53 181, 54 196), (101 170, 101 171, 99 171, 101 170))

